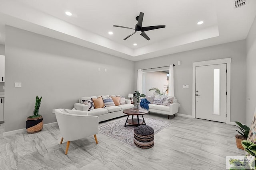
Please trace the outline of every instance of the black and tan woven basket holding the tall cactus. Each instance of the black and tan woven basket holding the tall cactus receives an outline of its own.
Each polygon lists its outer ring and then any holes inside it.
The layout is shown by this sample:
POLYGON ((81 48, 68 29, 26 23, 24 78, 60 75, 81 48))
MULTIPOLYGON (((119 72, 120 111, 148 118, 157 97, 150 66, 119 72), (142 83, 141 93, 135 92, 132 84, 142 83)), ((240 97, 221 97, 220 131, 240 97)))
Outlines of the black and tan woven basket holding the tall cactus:
POLYGON ((43 117, 35 117, 35 118, 30 118, 27 117, 26 121, 26 129, 28 133, 37 133, 42 131, 43 129, 43 117))

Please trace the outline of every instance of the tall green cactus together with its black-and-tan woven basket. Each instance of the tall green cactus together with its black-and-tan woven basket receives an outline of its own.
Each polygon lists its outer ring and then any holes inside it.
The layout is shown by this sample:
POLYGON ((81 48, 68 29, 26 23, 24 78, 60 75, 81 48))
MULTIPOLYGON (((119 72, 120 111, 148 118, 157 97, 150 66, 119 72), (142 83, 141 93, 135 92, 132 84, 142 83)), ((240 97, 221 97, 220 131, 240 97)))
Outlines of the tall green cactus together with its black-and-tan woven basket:
POLYGON ((37 133, 43 129, 43 117, 38 114, 42 97, 36 96, 34 115, 27 117, 26 129, 28 133, 37 133))

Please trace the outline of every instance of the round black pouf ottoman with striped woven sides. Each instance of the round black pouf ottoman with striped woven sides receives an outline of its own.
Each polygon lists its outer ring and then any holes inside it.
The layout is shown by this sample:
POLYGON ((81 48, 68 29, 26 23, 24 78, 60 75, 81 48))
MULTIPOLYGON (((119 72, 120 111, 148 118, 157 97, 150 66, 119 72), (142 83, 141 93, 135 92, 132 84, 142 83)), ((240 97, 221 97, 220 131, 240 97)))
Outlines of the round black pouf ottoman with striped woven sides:
POLYGON ((154 129, 148 125, 140 125, 134 128, 134 143, 142 149, 154 146, 154 129))

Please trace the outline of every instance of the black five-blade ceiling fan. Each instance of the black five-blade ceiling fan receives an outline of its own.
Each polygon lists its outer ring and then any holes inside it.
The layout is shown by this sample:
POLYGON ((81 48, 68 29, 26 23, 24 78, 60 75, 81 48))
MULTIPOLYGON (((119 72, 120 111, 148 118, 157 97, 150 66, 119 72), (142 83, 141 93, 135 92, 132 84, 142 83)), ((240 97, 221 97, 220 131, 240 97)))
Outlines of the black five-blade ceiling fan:
POLYGON ((156 25, 156 26, 142 27, 143 16, 144 16, 144 13, 140 12, 140 16, 136 17, 136 20, 138 21, 138 23, 135 25, 135 29, 134 28, 129 28, 129 27, 123 27, 123 26, 119 26, 119 25, 113 25, 113 26, 114 27, 121 27, 121 28, 128 28, 128 29, 135 30, 134 33, 131 33, 130 35, 125 37, 124 40, 126 40, 130 36, 134 35, 137 31, 140 33, 140 35, 142 35, 142 37, 146 38, 147 40, 150 40, 148 35, 146 35, 145 31, 149 31, 149 30, 152 30, 152 29, 165 28, 165 25, 156 25))

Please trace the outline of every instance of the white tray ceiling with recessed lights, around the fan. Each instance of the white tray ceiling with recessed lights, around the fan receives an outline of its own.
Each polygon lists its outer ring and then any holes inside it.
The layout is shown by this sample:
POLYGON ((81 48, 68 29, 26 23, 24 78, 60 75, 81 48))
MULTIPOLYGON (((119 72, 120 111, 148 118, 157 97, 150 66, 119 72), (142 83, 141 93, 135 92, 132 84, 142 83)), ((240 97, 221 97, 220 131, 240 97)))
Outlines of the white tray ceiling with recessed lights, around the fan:
POLYGON ((0 43, 11 25, 139 61, 245 39, 255 9, 256 0, 236 9, 234 0, 0 0, 0 43), (134 31, 113 25, 134 28, 140 12, 142 26, 166 28, 146 31, 149 41, 139 34, 123 40, 134 31))

